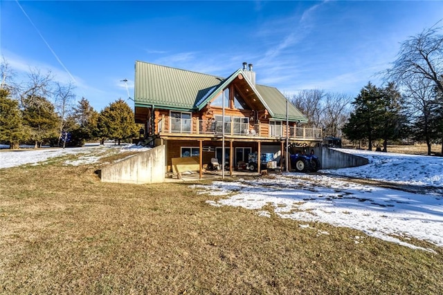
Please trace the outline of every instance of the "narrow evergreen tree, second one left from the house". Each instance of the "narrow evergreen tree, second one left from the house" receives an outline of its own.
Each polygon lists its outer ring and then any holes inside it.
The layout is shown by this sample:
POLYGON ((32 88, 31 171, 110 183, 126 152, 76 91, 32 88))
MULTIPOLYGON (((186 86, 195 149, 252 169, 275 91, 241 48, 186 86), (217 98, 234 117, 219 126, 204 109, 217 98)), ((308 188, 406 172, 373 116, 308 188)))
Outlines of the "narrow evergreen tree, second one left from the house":
POLYGON ((83 145, 88 140, 99 137, 98 112, 89 104, 88 99, 82 97, 78 106, 74 107, 72 119, 75 122, 73 128, 73 140, 76 145, 83 145))

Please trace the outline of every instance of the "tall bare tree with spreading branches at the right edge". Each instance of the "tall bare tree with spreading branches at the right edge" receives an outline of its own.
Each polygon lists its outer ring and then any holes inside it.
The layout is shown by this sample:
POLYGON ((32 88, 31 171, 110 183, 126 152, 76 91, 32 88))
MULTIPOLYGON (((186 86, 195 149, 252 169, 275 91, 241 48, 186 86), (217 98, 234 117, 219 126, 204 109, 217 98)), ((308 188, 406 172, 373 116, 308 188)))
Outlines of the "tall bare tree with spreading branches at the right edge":
MULTIPOLYGON (((435 104, 443 105, 443 35, 440 34, 443 27, 436 26, 404 41, 392 68, 385 72, 387 79, 406 89, 411 106, 417 107, 413 113, 420 115, 415 117, 415 126, 421 128, 416 131, 423 134, 415 135, 426 141, 428 154, 431 154, 431 142, 442 140, 443 133, 442 130, 432 130, 431 124, 435 119, 428 121, 435 113, 436 117, 443 117, 443 108, 435 107, 435 104)), ((442 124, 435 126, 443 128, 442 124)))

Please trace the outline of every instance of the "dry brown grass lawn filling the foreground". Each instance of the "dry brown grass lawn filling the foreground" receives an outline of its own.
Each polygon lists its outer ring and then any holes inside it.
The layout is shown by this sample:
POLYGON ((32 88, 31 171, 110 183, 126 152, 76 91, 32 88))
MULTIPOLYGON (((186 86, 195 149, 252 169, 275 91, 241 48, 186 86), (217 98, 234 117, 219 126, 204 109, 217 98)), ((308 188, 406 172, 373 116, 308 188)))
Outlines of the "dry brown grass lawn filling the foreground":
POLYGON ((273 212, 213 207, 206 200, 215 197, 196 194, 190 182, 102 183, 99 167, 59 160, 0 170, 1 294, 443 289, 443 250, 426 242, 415 245, 436 253, 321 223, 300 227, 273 212))

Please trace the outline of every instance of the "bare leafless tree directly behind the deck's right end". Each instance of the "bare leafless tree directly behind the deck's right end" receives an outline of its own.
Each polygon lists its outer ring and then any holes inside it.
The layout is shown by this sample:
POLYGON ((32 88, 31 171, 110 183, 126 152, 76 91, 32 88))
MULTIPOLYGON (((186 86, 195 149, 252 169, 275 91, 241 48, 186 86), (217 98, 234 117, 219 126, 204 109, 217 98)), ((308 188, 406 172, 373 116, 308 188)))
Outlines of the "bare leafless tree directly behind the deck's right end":
POLYGON ((304 89, 297 95, 289 97, 289 101, 307 117, 309 126, 320 128, 323 97, 325 97, 323 90, 304 89))

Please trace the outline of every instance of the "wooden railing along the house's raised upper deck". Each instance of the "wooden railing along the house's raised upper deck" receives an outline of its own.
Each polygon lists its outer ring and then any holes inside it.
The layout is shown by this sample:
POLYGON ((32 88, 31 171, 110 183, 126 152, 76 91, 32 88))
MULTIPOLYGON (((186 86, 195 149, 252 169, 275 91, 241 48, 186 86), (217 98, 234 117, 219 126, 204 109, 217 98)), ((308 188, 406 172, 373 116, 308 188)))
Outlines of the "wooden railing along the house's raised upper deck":
MULTIPOLYGON (((195 119, 175 119, 170 118, 168 125, 165 118, 161 118, 158 124, 159 133, 179 133, 179 134, 214 134, 240 135, 240 136, 264 136, 264 137, 286 137, 286 127, 281 130, 274 130, 275 126, 269 126, 269 133, 263 134, 260 124, 251 125, 244 122, 223 122, 215 120, 195 120, 195 119), (274 128, 274 129, 273 129, 274 128)), ((305 140, 321 140, 322 131, 319 128, 289 127, 290 138, 300 138, 305 140)))

